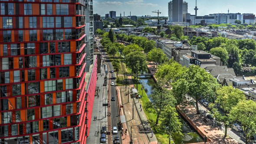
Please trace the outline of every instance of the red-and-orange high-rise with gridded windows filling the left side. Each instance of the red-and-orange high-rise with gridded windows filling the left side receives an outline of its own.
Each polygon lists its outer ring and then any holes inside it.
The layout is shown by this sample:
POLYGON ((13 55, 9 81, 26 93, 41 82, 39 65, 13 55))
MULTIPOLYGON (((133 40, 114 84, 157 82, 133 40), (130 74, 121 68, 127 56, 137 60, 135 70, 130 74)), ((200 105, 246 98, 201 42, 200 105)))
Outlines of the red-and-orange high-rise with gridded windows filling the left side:
POLYGON ((92 0, 0 7, 0 142, 85 144, 97 80, 92 0))

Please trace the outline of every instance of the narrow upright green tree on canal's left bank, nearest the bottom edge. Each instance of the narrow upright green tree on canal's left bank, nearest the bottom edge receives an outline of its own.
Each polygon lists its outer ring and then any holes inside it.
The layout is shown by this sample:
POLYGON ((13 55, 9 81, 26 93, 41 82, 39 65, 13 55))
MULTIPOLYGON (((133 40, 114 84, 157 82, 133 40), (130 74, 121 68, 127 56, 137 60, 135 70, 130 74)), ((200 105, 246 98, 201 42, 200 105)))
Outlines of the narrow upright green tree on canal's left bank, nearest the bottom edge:
POLYGON ((166 105, 160 119, 161 128, 164 130, 164 133, 167 134, 169 144, 171 144, 171 137, 173 137, 174 134, 183 135, 181 133, 182 123, 174 107, 166 105))

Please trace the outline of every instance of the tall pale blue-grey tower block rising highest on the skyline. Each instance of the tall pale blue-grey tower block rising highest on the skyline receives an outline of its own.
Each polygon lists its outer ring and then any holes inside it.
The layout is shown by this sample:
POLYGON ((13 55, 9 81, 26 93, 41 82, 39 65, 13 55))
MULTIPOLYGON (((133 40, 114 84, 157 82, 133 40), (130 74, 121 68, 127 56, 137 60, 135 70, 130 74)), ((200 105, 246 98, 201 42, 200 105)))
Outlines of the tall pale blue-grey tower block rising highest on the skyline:
POLYGON ((168 19, 170 22, 183 22, 183 0, 172 0, 168 3, 168 19))

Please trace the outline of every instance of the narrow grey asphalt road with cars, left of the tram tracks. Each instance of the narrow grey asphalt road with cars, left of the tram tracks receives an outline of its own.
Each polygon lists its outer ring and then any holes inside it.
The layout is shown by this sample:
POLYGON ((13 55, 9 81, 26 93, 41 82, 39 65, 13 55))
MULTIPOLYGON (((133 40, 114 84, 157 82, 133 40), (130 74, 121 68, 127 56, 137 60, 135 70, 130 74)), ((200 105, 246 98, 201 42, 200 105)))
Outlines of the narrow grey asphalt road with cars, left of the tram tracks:
MULTIPOLYGON (((108 67, 108 79, 111 79, 111 82, 115 83, 115 73, 110 73, 110 71, 114 70, 111 62, 108 60, 108 56, 106 54, 103 55, 105 62, 107 62, 108 67)), ((115 83, 116 84, 116 83, 115 83)), ((110 86, 110 85, 108 85, 110 86)), ((115 101, 111 101, 111 124, 112 128, 117 127, 118 128, 118 107, 117 107, 117 96, 116 96, 116 88, 115 86, 110 86, 110 92, 111 92, 111 98, 115 97, 115 101)), ((120 130, 118 128, 118 130, 120 130)), ((120 137, 120 131, 118 131, 118 134, 112 134, 112 141, 114 141, 115 136, 118 135, 120 137)))

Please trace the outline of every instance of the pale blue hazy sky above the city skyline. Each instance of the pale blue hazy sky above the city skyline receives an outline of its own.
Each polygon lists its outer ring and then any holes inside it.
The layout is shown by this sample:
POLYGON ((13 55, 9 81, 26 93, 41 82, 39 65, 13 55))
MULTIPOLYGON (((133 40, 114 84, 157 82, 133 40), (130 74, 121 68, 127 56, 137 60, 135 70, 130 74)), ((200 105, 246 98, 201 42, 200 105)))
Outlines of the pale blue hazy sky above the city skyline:
MULTIPOLYGON (((194 14, 195 0, 185 0, 188 3, 188 13, 194 14)), ((116 11, 116 15, 125 16, 151 15, 154 10, 160 10, 160 16, 167 16, 168 2, 170 0, 93 0, 93 13, 105 16, 109 11, 116 11)), ((208 15, 210 13, 254 13, 256 14, 256 0, 197 0, 198 16, 208 15)))

